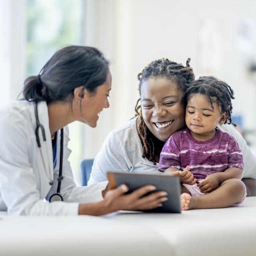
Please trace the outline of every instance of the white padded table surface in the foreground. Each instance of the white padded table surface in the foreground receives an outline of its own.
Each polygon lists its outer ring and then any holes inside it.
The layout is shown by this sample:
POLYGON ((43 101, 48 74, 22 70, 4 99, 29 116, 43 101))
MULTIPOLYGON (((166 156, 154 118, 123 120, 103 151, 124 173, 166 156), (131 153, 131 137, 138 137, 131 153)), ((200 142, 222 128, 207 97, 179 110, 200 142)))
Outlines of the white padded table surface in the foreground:
POLYGON ((256 255, 256 197, 182 214, 0 218, 1 256, 256 255))

